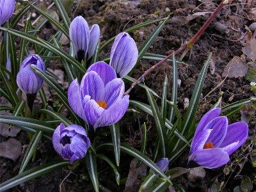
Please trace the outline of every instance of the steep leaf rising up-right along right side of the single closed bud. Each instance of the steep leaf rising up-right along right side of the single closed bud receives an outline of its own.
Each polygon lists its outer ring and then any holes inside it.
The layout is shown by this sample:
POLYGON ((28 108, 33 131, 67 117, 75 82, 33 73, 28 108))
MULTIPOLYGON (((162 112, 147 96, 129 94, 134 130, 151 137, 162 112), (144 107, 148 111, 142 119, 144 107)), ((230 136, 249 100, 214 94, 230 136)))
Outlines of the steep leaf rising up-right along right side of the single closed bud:
MULTIPOLYGON (((163 29, 164 25, 166 24, 167 20, 169 19, 169 16, 166 17, 163 21, 160 22, 160 24, 157 26, 156 29, 154 29, 154 31, 152 31, 152 33, 147 37, 147 39, 145 40, 145 42, 143 42, 143 44, 140 46, 140 48, 138 49, 139 51, 139 56, 138 56, 138 60, 136 65, 134 65, 134 67, 132 68, 132 70, 129 72, 129 74, 132 74, 132 72, 135 70, 135 68, 137 67, 137 65, 140 63, 140 60, 142 59, 143 55, 145 54, 145 52, 147 52, 148 48, 150 47, 150 45, 154 42, 154 40, 156 39, 157 35, 160 33, 160 31, 163 29)), ((128 74, 128 75, 129 75, 128 74)))

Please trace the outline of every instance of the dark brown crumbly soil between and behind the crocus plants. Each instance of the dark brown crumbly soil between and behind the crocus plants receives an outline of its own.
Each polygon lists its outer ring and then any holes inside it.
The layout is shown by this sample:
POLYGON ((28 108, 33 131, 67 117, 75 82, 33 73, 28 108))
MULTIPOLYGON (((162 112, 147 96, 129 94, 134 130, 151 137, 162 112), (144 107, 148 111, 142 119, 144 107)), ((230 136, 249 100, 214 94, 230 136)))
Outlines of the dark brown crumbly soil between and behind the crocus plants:
MULTIPOLYGON (((216 8, 216 4, 220 1, 195 1, 195 0, 179 0, 179 1, 153 1, 153 0, 136 0, 136 1, 111 1, 111 0, 90 0, 81 1, 80 4, 75 3, 72 6, 72 15, 83 16, 87 21, 89 26, 92 24, 99 24, 101 30, 101 42, 104 44, 106 40, 115 36, 116 34, 128 29, 135 24, 145 22, 147 20, 164 18, 170 15, 170 19, 164 26, 163 30, 159 33, 154 43, 150 46, 147 52, 154 54, 168 55, 179 49, 182 43, 190 40, 190 38, 195 35, 196 31, 204 24, 204 22, 209 17, 209 13, 216 8), (77 9, 76 9, 77 8, 77 9), (76 12, 75 12, 76 11, 76 12), (194 19, 189 20, 188 15, 193 15, 193 13, 203 12, 205 14, 199 15, 194 19)), ((204 65, 204 61, 207 56, 212 52, 212 66, 211 73, 209 70, 205 79, 204 90, 202 92, 202 99, 200 100, 200 106, 198 108, 198 118, 204 115, 208 111, 212 104, 214 104, 222 95, 223 100, 221 106, 225 106, 237 100, 247 99, 253 96, 250 91, 250 82, 246 81, 244 77, 225 79, 222 83, 224 77, 222 77, 223 69, 226 67, 227 63, 232 60, 234 56, 241 56, 243 54, 242 47, 244 45, 243 35, 245 33, 244 26, 250 26, 255 20, 250 19, 250 10, 255 6, 255 1, 234 1, 230 6, 225 6, 225 9, 218 14, 216 19, 210 24, 209 28, 206 29, 205 33, 200 37, 200 39, 195 43, 193 48, 184 56, 182 61, 187 65, 179 65, 179 79, 181 80, 179 88, 178 97, 178 108, 180 112, 184 114, 186 109, 184 109, 184 99, 191 98, 193 93, 195 82, 200 73, 201 68, 204 65), (246 4, 250 2, 249 4, 246 4), (254 4, 253 4, 254 3, 254 4), (244 5, 245 4, 245 5, 244 5), (247 16, 246 16, 247 15, 247 16), (248 16, 249 15, 249 16, 248 16), (229 33, 221 33, 216 29, 216 22, 220 22, 228 26, 230 29, 229 33), (214 87, 218 86, 214 90, 214 87), (211 92, 212 91, 212 92, 211 92), (211 92, 211 93, 210 93, 211 92), (221 92, 221 95, 220 95, 221 92), (209 95, 207 95, 210 93, 209 95), (206 96, 206 97, 205 97, 206 96), (205 97, 205 98, 204 98, 205 97), (203 99, 204 98, 204 99, 203 99)), ((54 9, 54 8, 53 8, 54 9)), ((130 35, 134 38, 138 47, 143 43, 148 35, 157 27, 157 24, 152 24, 146 28, 138 29, 130 35)), ((49 36, 54 35, 56 31, 51 27, 51 24, 45 25, 44 29, 40 31, 41 38, 49 38, 49 36)), ((19 40, 17 40, 19 44, 19 40)), ((68 50, 68 45, 64 47, 68 50)), ((104 58, 109 55, 111 47, 106 47, 100 54, 100 58, 104 58)), ((177 56, 178 60, 180 55, 177 56)), ((51 61, 50 67, 60 68, 63 70, 61 65, 57 65, 60 61, 51 61)), ((132 77, 138 79, 138 77, 143 74, 145 70, 156 64, 156 61, 145 61, 142 60, 138 68, 135 70, 132 77)), ((155 90, 159 95, 161 95, 163 79, 168 76, 168 99, 171 98, 171 87, 172 87, 172 66, 170 63, 164 63, 161 67, 154 70, 149 76, 145 78, 145 84, 155 90)), ((128 89, 131 83, 125 84, 128 89)), ((145 91, 140 87, 136 86, 130 93, 130 99, 140 100, 141 102, 147 103, 147 95, 145 91)), ((53 98, 54 100, 54 98, 53 98)), ((159 100, 157 100, 159 102, 159 100)), ((230 122, 234 120, 239 120, 237 118, 231 119, 230 122)), ((136 113, 127 113, 120 122, 122 138, 121 140, 132 147, 140 149, 141 144, 141 124, 147 122, 148 129, 148 148, 150 145, 154 145, 154 140, 156 140, 156 131, 154 130, 154 119, 151 116, 146 115, 141 112, 139 115, 136 113)), ((255 125, 250 124, 251 132, 253 135, 253 129, 255 132, 255 125)), ((107 128, 102 128, 99 131, 99 140, 110 141, 111 137, 107 128), (108 136, 104 136, 104 132, 108 136)), ((17 134, 17 140, 22 143, 22 146, 26 149, 26 145, 29 143, 28 136, 26 132, 20 131, 17 134)), ((0 136, 0 141, 6 141, 8 138, 0 136)), ((248 141, 250 142, 250 141, 248 141)), ((230 163, 226 167, 236 163, 235 157, 239 157, 240 153, 246 152, 246 146, 248 143, 244 144, 241 149, 239 149, 232 157, 230 163)), ((19 173, 20 164, 22 163, 22 157, 24 157, 23 150, 19 159, 15 162, 1 157, 1 175, 0 182, 11 179, 19 173)), ((147 151, 148 156, 152 154, 150 150, 147 151)), ((105 152, 109 158, 113 159, 111 152, 105 152)), ((180 166, 186 161, 188 153, 184 153, 184 156, 180 157, 177 163, 170 164, 170 167, 180 166)), ((36 152, 35 162, 31 162, 28 165, 29 168, 33 168, 40 164, 44 164, 51 161, 60 160, 60 156, 56 154, 52 148, 52 143, 47 140, 42 140, 38 146, 38 151, 36 152)), ((121 174, 121 179, 125 179, 129 173, 129 167, 132 158, 121 156, 121 164, 118 170, 121 174)), ((115 162, 115 160, 113 159, 115 162)), ((124 191, 124 183, 117 186, 115 182, 115 174, 113 170, 109 168, 108 164, 99 161, 98 162, 98 172, 99 172, 99 182, 102 186, 105 186, 111 191, 124 191)), ((25 182, 19 186, 10 189, 10 191, 58 191, 61 181, 67 179, 63 182, 63 191, 93 191, 93 186, 86 175, 86 170, 84 170, 84 164, 80 164, 75 170, 68 170, 68 168, 62 168, 56 172, 49 173, 40 177, 38 179, 25 182)), ((215 170, 206 170, 206 177, 203 180, 196 182, 188 182, 188 176, 184 175, 174 179, 173 182, 182 186, 186 191, 207 191, 212 187, 212 184, 218 182, 223 182, 225 184, 225 191, 233 191, 236 186, 239 186, 241 180, 248 176, 253 180, 253 171, 250 161, 246 161, 243 166, 243 170, 236 177, 236 173, 240 171, 240 167, 237 166, 233 172, 225 175, 223 173, 224 167, 215 170)))

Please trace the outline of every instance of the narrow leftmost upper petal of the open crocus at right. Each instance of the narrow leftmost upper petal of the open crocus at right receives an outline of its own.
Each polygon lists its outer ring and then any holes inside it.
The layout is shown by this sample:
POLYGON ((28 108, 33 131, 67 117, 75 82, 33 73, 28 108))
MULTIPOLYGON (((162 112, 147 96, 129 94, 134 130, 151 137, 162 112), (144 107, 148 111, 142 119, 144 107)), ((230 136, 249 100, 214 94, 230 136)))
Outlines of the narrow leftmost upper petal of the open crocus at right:
POLYGON ((205 125, 207 125, 212 119, 220 115, 220 111, 220 108, 214 108, 205 113, 205 115, 202 117, 202 119, 200 120, 199 124, 196 127, 194 138, 199 132, 201 132, 204 129, 205 125))

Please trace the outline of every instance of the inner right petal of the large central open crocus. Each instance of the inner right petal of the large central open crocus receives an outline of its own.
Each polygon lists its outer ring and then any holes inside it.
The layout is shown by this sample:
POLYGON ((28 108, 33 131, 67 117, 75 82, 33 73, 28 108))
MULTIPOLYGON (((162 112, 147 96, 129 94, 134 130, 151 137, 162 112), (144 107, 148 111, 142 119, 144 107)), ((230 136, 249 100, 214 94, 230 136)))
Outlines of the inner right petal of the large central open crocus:
POLYGON ((107 102, 107 109, 118 99, 124 97, 124 81, 116 78, 110 81, 105 87, 104 100, 107 102))

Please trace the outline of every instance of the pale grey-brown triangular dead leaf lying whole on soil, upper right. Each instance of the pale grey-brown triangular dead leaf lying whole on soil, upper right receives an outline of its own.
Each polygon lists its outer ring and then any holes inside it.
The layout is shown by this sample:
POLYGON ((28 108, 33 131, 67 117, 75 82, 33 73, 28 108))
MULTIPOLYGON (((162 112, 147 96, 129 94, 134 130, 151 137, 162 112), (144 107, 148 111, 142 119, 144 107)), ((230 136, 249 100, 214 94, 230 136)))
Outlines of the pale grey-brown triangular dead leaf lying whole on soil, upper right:
POLYGON ((243 60, 237 56, 228 62, 228 65, 224 68, 222 77, 228 76, 228 78, 244 77, 248 71, 248 65, 243 63, 243 60))

